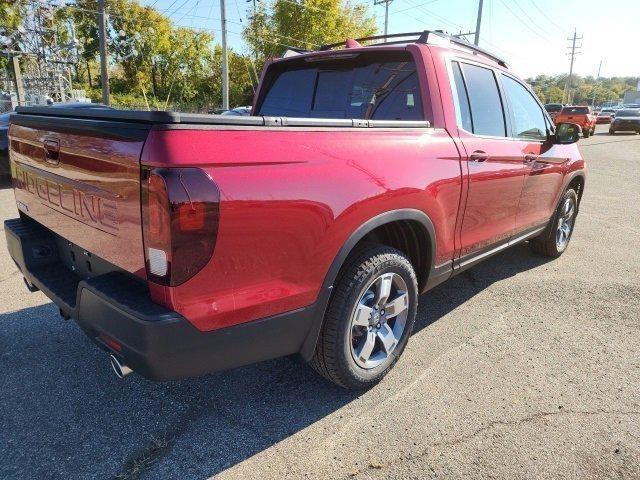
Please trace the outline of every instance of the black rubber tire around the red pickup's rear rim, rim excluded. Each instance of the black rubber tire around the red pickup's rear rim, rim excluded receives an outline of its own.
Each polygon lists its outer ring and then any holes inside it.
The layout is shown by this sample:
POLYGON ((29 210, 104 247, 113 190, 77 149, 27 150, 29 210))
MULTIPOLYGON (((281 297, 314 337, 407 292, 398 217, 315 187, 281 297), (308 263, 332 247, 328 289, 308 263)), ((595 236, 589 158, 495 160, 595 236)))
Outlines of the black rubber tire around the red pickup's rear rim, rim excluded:
MULTIPOLYGON (((352 254, 337 279, 311 366, 335 384, 348 389, 370 388, 393 368, 413 331, 418 306, 418 283, 408 258, 395 248, 369 244, 352 254), (383 274, 399 275, 407 287, 405 327, 384 363, 367 369, 352 354, 351 319, 362 295, 383 274)), ((383 311, 384 312, 384 311, 383 311)), ((371 329, 371 327, 369 327, 371 329)))

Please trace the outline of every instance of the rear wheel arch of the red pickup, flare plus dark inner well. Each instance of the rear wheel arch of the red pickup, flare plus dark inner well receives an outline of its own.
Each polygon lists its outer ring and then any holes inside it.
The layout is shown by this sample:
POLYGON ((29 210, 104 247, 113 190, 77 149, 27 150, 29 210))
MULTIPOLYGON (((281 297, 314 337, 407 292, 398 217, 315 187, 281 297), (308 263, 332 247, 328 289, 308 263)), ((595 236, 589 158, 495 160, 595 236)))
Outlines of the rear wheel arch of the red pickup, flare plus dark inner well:
MULTIPOLYGON (((322 288, 315 304, 315 319, 313 325, 311 326, 307 338, 305 339, 300 350, 300 354, 305 360, 310 360, 313 356, 316 342, 318 340, 318 335, 320 334, 320 329, 322 328, 322 323, 324 321, 324 314, 329 304, 329 300, 331 299, 333 284, 338 278, 338 274, 340 273, 340 270, 345 264, 347 258, 349 258, 349 255, 355 251, 358 244, 360 244, 363 240, 366 241, 367 239, 371 239, 372 241, 375 241, 376 234, 382 234, 385 227, 392 224, 400 225, 405 222, 411 222, 412 225, 419 225, 420 229, 415 233, 419 232, 420 235, 424 235, 423 240, 427 243, 427 251, 424 254, 421 254, 421 252, 417 252, 415 248, 413 249, 413 252, 407 252, 405 251, 405 249, 400 248, 400 250, 404 251, 410 257, 410 259, 413 257, 413 261, 415 261, 416 258, 420 259, 418 260, 418 267, 416 268, 419 291, 426 287, 429 277, 431 276, 434 269, 436 248, 435 228, 433 226, 433 222, 427 216, 427 214, 420 210, 407 208, 387 211, 369 219, 351 233, 351 235, 344 242, 337 255, 331 262, 331 266, 327 271, 325 279, 322 283, 322 288), (423 261, 422 258, 424 258, 423 264, 421 264, 421 262, 423 261)), ((408 231, 406 232, 406 235, 409 235, 408 231)), ((404 242, 407 247, 411 247, 411 239, 406 237, 406 235, 399 233, 399 237, 395 239, 395 242, 404 242), (403 236, 404 238, 402 238, 403 236)), ((391 246, 396 246, 397 248, 397 243, 396 245, 391 246)), ((416 265, 414 264, 414 267, 415 266, 416 265)))

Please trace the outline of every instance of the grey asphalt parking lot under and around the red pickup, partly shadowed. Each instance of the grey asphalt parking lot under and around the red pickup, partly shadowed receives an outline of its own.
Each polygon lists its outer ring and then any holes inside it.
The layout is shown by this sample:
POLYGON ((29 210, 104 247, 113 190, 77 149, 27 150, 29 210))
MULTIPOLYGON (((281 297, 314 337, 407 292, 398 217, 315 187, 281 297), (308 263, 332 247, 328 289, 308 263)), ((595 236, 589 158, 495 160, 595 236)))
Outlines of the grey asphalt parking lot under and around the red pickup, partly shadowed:
POLYGON ((291 359, 118 380, 1 235, 0 478, 640 478, 640 136, 579 146, 566 254, 520 245, 424 295, 365 393, 291 359))

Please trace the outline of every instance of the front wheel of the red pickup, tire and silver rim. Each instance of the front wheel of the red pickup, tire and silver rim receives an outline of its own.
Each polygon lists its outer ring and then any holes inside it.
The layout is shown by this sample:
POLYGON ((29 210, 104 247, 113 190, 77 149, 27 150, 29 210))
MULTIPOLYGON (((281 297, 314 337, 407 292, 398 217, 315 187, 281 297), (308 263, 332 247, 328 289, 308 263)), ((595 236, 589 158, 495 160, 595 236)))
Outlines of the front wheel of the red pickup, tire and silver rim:
POLYGON ((560 199, 548 227, 531 239, 531 249, 541 255, 557 258, 567 249, 578 215, 578 195, 569 188, 560 199))

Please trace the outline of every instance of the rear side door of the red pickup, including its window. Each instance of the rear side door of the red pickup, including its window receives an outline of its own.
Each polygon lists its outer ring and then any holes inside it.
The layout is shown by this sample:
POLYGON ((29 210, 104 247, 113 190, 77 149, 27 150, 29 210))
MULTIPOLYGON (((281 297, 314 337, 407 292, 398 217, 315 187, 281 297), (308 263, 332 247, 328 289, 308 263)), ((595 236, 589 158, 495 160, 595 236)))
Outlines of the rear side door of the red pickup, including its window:
POLYGON ((469 191, 461 230, 461 266, 508 242, 524 176, 523 154, 507 138, 504 101, 491 68, 453 61, 458 132, 467 154, 469 191))

